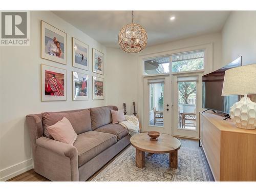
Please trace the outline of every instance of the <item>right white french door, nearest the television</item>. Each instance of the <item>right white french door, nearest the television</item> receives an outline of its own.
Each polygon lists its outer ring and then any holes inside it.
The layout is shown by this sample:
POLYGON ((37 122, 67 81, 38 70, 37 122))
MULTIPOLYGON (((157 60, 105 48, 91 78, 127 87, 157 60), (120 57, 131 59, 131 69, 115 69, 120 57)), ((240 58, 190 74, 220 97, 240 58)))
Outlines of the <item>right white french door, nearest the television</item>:
POLYGON ((173 135, 199 138, 199 75, 173 75, 173 135))

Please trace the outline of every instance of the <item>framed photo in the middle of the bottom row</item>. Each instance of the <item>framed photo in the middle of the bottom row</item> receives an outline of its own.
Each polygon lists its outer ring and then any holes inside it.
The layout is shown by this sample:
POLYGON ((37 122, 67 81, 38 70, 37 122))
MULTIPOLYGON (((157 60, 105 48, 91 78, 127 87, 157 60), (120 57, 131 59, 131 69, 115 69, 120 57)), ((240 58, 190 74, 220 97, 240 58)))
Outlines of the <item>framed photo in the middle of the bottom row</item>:
POLYGON ((73 100, 88 100, 89 75, 73 71, 73 100))

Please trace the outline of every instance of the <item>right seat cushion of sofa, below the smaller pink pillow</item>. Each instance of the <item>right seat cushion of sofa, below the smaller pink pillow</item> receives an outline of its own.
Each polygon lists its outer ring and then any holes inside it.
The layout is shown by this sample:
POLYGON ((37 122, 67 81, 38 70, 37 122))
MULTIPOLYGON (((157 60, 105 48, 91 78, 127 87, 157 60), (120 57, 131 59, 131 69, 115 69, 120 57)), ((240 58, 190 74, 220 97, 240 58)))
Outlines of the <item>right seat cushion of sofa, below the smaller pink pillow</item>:
POLYGON ((117 140, 120 140, 126 135, 128 135, 128 132, 126 132, 124 127, 120 124, 106 124, 104 126, 99 127, 95 131, 114 134, 117 136, 117 140))

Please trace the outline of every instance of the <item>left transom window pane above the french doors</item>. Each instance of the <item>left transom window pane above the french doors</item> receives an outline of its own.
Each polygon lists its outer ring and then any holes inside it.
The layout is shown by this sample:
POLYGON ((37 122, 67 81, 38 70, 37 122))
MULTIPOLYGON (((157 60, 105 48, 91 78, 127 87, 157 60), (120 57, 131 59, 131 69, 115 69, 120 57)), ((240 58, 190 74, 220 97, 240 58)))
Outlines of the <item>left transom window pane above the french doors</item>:
POLYGON ((170 72, 169 57, 157 57, 144 61, 144 74, 162 74, 170 72))

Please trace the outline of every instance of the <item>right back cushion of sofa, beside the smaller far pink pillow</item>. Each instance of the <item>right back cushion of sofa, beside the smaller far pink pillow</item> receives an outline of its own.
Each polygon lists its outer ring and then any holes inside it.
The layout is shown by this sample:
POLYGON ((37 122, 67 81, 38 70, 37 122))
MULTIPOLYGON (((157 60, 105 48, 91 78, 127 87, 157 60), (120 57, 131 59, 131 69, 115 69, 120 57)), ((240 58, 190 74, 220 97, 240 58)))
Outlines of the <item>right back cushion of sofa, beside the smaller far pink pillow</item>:
POLYGON ((92 130, 96 130, 100 126, 109 124, 112 122, 112 115, 110 110, 116 110, 116 106, 101 106, 100 108, 91 108, 91 122, 92 130))

